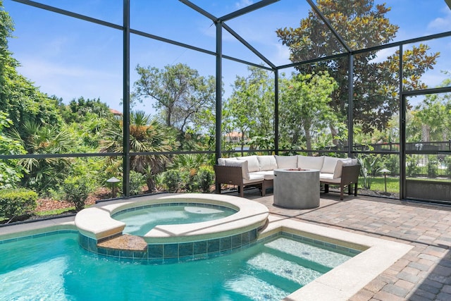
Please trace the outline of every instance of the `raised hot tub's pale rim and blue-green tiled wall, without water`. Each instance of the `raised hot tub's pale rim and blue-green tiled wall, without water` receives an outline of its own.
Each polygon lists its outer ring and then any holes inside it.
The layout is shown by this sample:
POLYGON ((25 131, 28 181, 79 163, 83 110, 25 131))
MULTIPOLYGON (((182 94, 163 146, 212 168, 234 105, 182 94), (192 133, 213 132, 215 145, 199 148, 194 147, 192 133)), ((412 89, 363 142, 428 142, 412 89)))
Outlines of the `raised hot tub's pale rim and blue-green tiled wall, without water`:
POLYGON ((75 216, 80 245, 106 256, 134 259, 152 264, 214 257, 239 250, 257 240, 269 211, 263 204, 226 195, 165 194, 96 204, 75 216), (236 211, 230 216, 200 223, 158 225, 140 240, 128 238, 116 245, 106 242, 121 238, 125 223, 111 216, 119 211, 162 204, 207 204, 236 211), (144 247, 142 242, 144 242, 144 247), (140 247, 135 247, 139 245, 140 247))

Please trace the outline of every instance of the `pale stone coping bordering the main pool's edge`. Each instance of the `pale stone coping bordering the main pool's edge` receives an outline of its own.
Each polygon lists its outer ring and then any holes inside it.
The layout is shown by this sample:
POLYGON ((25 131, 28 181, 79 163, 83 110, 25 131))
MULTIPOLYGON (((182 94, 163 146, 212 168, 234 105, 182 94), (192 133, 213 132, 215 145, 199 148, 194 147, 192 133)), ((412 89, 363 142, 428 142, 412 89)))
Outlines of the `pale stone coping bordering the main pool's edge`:
MULTIPOLYGON (((239 199, 240 202, 247 202, 247 199, 239 199)), ((134 200, 128 199, 125 201, 132 202, 134 200)), ((0 240, 20 238, 50 231, 77 230, 74 220, 75 218, 70 216, 62 219, 2 227, 0 240)), ((413 248, 412 245, 401 242, 373 238, 335 228, 316 226, 311 223, 273 214, 268 216, 268 223, 264 230, 259 233, 259 240, 280 231, 363 251, 323 276, 316 278, 316 280, 303 288, 288 295, 284 299, 287 301, 349 300, 350 297, 358 293, 366 284, 395 264, 398 259, 413 248)))

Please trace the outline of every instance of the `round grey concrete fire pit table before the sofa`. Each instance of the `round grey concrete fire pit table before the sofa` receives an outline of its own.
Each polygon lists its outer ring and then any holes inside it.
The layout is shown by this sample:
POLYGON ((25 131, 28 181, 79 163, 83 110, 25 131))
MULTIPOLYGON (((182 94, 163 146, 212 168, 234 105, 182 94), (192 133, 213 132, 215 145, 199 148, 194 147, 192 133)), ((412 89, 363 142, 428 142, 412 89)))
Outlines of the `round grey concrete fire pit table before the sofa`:
POLYGON ((319 170, 274 170, 274 204, 292 209, 319 207, 319 170))

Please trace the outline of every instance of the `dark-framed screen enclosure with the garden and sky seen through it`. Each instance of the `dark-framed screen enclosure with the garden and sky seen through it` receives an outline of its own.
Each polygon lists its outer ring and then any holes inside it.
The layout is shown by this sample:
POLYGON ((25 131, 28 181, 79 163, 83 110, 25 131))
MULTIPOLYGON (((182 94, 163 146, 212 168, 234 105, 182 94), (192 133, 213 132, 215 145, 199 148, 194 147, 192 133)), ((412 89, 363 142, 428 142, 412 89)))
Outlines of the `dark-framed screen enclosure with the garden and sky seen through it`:
POLYGON ((0 188, 213 192, 221 156, 304 154, 451 202, 449 1, 3 6, 0 188))

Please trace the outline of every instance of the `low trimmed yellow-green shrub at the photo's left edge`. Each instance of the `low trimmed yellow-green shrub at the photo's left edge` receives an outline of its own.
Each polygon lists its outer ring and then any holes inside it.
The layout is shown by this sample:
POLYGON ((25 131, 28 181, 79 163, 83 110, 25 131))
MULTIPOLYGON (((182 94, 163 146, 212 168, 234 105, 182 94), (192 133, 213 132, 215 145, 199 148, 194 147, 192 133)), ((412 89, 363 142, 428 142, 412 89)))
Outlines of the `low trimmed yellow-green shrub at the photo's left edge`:
POLYGON ((0 190, 0 216, 13 219, 30 214, 37 207, 37 193, 25 188, 0 190))

